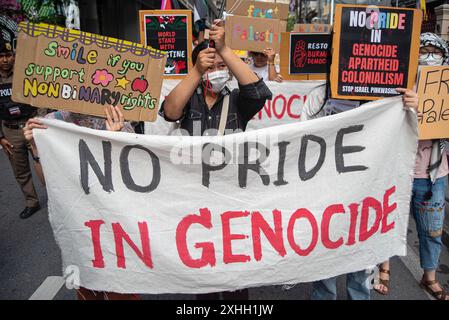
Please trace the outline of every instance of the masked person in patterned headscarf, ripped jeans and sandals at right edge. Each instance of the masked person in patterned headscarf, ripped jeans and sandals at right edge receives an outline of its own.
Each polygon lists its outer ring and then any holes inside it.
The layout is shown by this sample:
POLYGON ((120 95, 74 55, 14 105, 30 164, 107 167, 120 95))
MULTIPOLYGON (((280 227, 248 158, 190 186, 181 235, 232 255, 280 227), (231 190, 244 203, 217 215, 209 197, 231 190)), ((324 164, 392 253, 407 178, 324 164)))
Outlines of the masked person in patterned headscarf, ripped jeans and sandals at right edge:
MULTIPOLYGON (((447 65, 448 59, 449 49, 443 39, 430 32, 421 34, 419 65, 447 65)), ((442 248, 448 154, 444 140, 419 141, 410 206, 418 230, 420 263, 424 271, 420 285, 438 300, 449 299, 449 294, 436 280, 442 248)), ((380 283, 374 289, 388 294, 389 280, 390 264, 386 261, 379 267, 380 283)))

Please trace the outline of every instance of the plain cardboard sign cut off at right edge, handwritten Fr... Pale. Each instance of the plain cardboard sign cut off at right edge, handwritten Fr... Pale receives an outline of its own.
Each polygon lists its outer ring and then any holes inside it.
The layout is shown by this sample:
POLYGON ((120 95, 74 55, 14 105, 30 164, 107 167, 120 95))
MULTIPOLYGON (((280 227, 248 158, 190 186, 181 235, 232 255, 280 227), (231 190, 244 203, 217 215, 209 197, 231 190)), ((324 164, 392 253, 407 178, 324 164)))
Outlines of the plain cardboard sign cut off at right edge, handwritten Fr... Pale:
POLYGON ((420 67, 419 139, 449 138, 449 66, 420 67))

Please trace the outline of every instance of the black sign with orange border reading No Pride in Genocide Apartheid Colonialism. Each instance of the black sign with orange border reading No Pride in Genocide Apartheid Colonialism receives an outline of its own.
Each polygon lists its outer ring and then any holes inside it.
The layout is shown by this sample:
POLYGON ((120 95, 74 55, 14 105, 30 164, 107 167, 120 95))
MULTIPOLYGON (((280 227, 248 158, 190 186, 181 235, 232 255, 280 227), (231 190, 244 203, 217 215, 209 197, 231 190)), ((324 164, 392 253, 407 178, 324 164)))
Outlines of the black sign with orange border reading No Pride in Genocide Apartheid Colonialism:
POLYGON ((417 9, 337 5, 332 97, 375 100, 413 88, 421 20, 417 9))

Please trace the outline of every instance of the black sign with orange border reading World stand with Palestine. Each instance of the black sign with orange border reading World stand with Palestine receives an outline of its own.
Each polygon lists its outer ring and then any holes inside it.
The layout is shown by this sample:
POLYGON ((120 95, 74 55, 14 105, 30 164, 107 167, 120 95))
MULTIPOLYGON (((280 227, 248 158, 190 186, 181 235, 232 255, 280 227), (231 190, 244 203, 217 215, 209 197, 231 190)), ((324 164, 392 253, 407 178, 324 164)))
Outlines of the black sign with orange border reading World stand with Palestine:
POLYGON ((192 11, 141 10, 140 43, 167 52, 166 78, 182 78, 192 68, 192 11))

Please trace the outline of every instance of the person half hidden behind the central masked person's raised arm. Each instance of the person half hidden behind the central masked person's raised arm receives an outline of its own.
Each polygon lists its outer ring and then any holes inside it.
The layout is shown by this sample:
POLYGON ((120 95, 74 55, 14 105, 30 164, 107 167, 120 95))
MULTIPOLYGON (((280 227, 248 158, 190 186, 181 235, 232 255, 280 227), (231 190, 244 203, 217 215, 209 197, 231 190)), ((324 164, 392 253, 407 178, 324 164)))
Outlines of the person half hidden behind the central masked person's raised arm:
POLYGON ((252 58, 249 67, 259 78, 264 81, 283 81, 274 64, 276 52, 273 48, 266 48, 263 52, 250 51, 249 55, 252 58))

